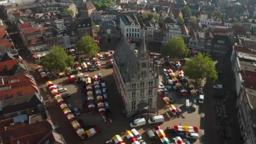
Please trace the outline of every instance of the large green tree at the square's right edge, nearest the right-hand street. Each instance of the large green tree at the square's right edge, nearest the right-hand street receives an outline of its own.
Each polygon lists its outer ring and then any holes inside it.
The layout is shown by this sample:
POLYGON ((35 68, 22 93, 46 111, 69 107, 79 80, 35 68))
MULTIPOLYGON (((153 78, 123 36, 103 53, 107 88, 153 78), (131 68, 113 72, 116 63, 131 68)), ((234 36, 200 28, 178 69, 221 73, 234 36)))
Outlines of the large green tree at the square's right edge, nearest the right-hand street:
POLYGON ((218 73, 214 68, 214 62, 208 54, 203 55, 198 53, 196 56, 187 60, 184 65, 184 73, 191 79, 202 80, 217 80, 218 73))

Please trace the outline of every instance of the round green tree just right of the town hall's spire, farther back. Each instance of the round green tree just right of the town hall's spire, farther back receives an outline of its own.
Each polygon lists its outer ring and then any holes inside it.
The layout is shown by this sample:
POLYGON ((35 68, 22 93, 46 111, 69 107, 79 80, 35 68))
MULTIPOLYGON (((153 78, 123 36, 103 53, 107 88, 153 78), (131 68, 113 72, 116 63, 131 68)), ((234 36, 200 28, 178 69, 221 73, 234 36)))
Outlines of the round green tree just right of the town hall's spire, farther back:
POLYGON ((181 58, 187 56, 188 52, 189 49, 185 45, 182 37, 173 36, 171 40, 168 40, 163 48, 163 53, 166 53, 171 57, 181 58))

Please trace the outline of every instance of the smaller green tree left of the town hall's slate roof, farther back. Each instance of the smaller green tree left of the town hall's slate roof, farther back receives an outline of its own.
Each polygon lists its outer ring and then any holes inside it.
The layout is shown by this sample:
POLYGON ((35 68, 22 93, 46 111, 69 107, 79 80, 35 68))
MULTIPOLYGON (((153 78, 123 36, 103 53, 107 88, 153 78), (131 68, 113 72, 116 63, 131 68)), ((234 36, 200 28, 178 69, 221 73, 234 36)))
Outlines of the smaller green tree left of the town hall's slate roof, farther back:
POLYGON ((77 49, 78 51, 83 51, 87 56, 93 56, 99 51, 99 47, 94 42, 93 37, 87 34, 77 41, 77 49))

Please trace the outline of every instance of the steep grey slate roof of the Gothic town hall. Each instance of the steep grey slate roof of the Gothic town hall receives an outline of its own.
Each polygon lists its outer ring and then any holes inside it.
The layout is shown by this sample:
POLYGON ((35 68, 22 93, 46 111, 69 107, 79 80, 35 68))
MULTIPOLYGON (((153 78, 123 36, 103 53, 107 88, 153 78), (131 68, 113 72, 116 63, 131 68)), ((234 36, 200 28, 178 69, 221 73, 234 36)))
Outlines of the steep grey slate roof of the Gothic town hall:
POLYGON ((134 50, 132 50, 131 45, 124 37, 122 37, 122 40, 115 50, 114 59, 119 67, 123 80, 125 82, 130 82, 131 73, 136 72, 137 70, 138 59, 134 50))

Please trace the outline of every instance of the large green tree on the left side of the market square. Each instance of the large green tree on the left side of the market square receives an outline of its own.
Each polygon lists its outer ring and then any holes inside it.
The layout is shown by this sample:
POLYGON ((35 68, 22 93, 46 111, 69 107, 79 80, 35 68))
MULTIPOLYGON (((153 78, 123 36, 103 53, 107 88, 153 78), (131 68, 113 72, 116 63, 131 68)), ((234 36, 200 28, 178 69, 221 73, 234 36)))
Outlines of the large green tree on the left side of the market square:
POLYGON ((50 52, 40 60, 40 64, 51 72, 63 72, 67 67, 74 66, 74 58, 68 56, 63 48, 53 45, 50 52))

